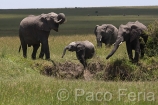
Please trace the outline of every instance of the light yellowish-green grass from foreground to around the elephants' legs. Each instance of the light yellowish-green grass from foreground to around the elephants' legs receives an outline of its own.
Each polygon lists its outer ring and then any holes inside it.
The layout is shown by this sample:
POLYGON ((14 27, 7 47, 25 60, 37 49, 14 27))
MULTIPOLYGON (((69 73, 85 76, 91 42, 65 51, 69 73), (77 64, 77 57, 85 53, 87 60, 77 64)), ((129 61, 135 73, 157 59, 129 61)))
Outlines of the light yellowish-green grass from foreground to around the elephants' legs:
MULTIPOLYGON (((56 63, 64 63, 66 61, 79 63, 78 60, 76 60, 75 53, 67 52, 64 59, 60 57, 66 44, 73 40, 84 40, 86 38, 89 38, 90 41, 95 43, 95 38, 93 35, 50 37, 49 43, 51 45, 51 59, 53 59, 56 63), (61 41, 57 44, 57 41, 63 38, 65 41, 61 41)), ((24 59, 22 57, 22 52, 20 54, 18 53, 18 40, 18 37, 5 37, 5 39, 1 38, 0 40, 0 44, 3 45, 0 51, 1 105, 122 105, 122 103, 127 105, 157 104, 158 72, 157 67, 155 67, 157 64, 156 62, 158 62, 157 58, 144 58, 144 60, 140 61, 141 66, 131 64, 128 62, 127 54, 125 54, 125 44, 123 44, 120 46, 116 54, 107 61, 105 60, 105 56, 107 55, 107 52, 112 49, 112 47, 104 47, 102 49, 96 49, 97 56, 91 59, 89 63, 95 60, 96 62, 100 63, 104 62, 104 65, 107 65, 106 68, 113 65, 110 70, 114 70, 115 68, 117 68, 117 70, 124 68, 124 70, 129 72, 130 70, 134 70, 133 74, 135 77, 132 77, 132 81, 121 81, 119 76, 113 78, 112 81, 103 81, 103 79, 100 78, 100 75, 102 74, 97 74, 96 79, 90 81, 85 81, 84 79, 60 79, 52 76, 47 77, 41 75, 40 68, 36 64, 48 66, 52 65, 51 62, 40 59, 31 60, 31 57, 29 56, 31 55, 31 48, 28 49, 28 59, 24 59), (13 39, 14 42, 11 43, 11 40, 13 39), (5 40, 6 45, 4 45, 2 40, 5 40), (122 50, 124 50, 124 53, 122 50), (124 61, 121 60, 122 57, 125 58, 124 61), (148 74, 150 72, 147 72, 146 70, 154 71, 152 72, 154 74, 148 74), (65 101, 58 99, 58 92, 60 92, 62 89, 66 89, 69 93, 69 97, 65 101), (123 92, 120 94, 126 95, 120 95, 118 93, 119 90, 120 92, 123 92), (128 94, 134 94, 134 96, 128 96, 128 94)), ((65 94, 67 93, 62 93, 62 95, 65 94)))

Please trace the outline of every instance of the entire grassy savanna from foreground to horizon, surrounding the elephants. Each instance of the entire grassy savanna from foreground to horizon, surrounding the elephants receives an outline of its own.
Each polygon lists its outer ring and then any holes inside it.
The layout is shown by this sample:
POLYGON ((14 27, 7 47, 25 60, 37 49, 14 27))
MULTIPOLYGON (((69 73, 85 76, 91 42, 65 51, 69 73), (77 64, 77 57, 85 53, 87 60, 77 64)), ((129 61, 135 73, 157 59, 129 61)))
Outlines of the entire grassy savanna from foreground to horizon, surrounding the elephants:
POLYGON ((88 61, 88 70, 95 74, 89 81, 82 76, 71 78, 66 74, 67 69, 61 69, 71 66, 71 71, 82 66, 75 53, 67 52, 61 58, 63 48, 77 40, 89 40, 96 46, 93 30, 97 24, 119 27, 138 20, 148 26, 158 19, 157 11, 157 6, 0 10, 0 104, 157 105, 157 56, 145 55, 138 64, 132 64, 128 61, 125 44, 122 44, 109 60, 105 57, 112 46, 96 48, 96 55, 88 61), (51 31, 49 37, 51 59, 57 67, 50 61, 32 60, 32 48, 28 48, 27 59, 22 57, 22 51, 18 52, 20 21, 30 14, 52 11, 63 12, 67 17, 59 32, 51 31), (52 74, 54 72, 56 74, 52 74))

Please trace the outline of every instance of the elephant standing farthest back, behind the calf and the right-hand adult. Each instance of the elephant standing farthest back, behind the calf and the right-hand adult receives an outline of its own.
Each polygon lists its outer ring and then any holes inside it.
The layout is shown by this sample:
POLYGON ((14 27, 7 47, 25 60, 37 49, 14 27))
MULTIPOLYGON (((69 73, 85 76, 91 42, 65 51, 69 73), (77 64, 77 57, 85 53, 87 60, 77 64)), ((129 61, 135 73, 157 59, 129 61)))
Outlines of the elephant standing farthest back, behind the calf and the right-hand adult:
POLYGON ((112 45, 117 39, 118 29, 112 24, 96 25, 94 34, 96 35, 97 46, 102 47, 102 43, 105 45, 112 45))

